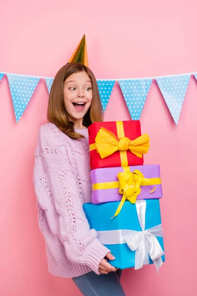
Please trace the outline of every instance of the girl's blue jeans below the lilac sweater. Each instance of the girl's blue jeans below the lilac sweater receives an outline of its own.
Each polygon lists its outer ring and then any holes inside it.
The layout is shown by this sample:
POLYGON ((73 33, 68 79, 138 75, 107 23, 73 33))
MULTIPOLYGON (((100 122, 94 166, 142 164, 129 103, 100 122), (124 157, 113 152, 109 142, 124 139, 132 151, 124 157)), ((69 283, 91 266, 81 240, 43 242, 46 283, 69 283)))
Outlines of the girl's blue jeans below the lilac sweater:
POLYGON ((84 296, 126 296, 120 283, 121 274, 121 269, 100 275, 91 271, 72 280, 84 296))

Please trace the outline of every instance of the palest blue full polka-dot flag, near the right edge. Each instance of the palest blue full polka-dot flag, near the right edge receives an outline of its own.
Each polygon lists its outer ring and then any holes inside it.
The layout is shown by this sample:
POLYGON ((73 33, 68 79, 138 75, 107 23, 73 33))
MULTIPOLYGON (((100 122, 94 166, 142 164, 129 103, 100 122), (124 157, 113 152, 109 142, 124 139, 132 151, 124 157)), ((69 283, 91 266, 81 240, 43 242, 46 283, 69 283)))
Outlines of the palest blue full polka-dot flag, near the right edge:
POLYGON ((183 74, 156 78, 176 125, 179 120, 190 77, 191 74, 183 74))

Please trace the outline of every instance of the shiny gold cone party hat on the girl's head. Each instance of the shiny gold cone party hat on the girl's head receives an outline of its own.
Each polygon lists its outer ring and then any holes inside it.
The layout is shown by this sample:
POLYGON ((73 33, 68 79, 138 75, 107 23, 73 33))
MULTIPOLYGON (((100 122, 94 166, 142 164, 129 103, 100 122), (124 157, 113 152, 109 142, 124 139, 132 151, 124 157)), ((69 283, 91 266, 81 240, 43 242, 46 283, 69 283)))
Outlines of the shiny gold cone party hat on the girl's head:
POLYGON ((88 55, 87 55, 85 34, 81 39, 81 41, 79 42, 78 46, 76 47, 68 63, 81 63, 88 67, 88 55))

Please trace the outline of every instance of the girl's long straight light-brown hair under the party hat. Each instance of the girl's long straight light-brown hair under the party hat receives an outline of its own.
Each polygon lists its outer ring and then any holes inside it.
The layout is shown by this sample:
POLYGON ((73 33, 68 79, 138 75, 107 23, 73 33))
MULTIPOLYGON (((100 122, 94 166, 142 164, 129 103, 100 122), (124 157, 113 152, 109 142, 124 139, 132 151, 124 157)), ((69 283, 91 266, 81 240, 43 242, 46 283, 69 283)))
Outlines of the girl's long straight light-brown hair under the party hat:
POLYGON ((64 103, 64 82, 72 74, 85 71, 92 82, 92 104, 83 119, 83 125, 89 127, 93 122, 103 121, 103 109, 99 97, 97 80, 92 71, 80 63, 68 63, 56 74, 49 96, 47 118, 54 123, 63 133, 72 139, 84 138, 74 132, 74 123, 68 118, 64 103))

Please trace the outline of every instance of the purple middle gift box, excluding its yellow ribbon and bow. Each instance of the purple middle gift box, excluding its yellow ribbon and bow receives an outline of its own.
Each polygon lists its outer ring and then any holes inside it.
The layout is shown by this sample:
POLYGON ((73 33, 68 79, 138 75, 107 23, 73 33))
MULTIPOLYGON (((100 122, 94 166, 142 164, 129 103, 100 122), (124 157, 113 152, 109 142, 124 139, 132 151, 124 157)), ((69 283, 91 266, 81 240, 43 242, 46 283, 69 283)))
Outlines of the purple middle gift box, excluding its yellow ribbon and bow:
MULTIPOLYGON (((161 178, 159 165, 137 165, 130 166, 130 171, 140 171, 144 178, 161 178)), ((92 203, 100 204, 105 202, 120 201, 123 194, 119 193, 119 188, 95 189, 95 184, 118 182, 118 173, 123 173, 123 167, 99 168, 91 171, 91 181, 93 185, 92 203)), ((162 197, 162 185, 142 185, 141 192, 137 199, 155 199, 162 197), (154 192, 150 192, 155 188, 154 192)))

